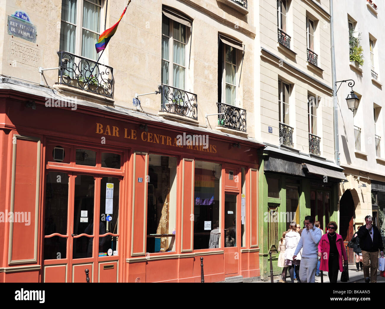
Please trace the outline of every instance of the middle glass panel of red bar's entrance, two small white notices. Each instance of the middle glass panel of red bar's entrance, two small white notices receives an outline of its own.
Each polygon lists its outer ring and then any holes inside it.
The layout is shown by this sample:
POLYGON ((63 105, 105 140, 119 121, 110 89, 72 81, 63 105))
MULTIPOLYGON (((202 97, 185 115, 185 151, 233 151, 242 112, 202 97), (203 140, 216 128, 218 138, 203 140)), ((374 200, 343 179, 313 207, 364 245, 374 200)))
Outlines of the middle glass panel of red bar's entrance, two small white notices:
MULTIPOLYGON (((74 192, 73 234, 94 234, 94 193, 95 179, 91 175, 77 175, 74 192)), ((97 218, 99 220, 99 218, 97 218)), ((72 257, 82 259, 92 257, 93 237, 74 238, 72 257)))

